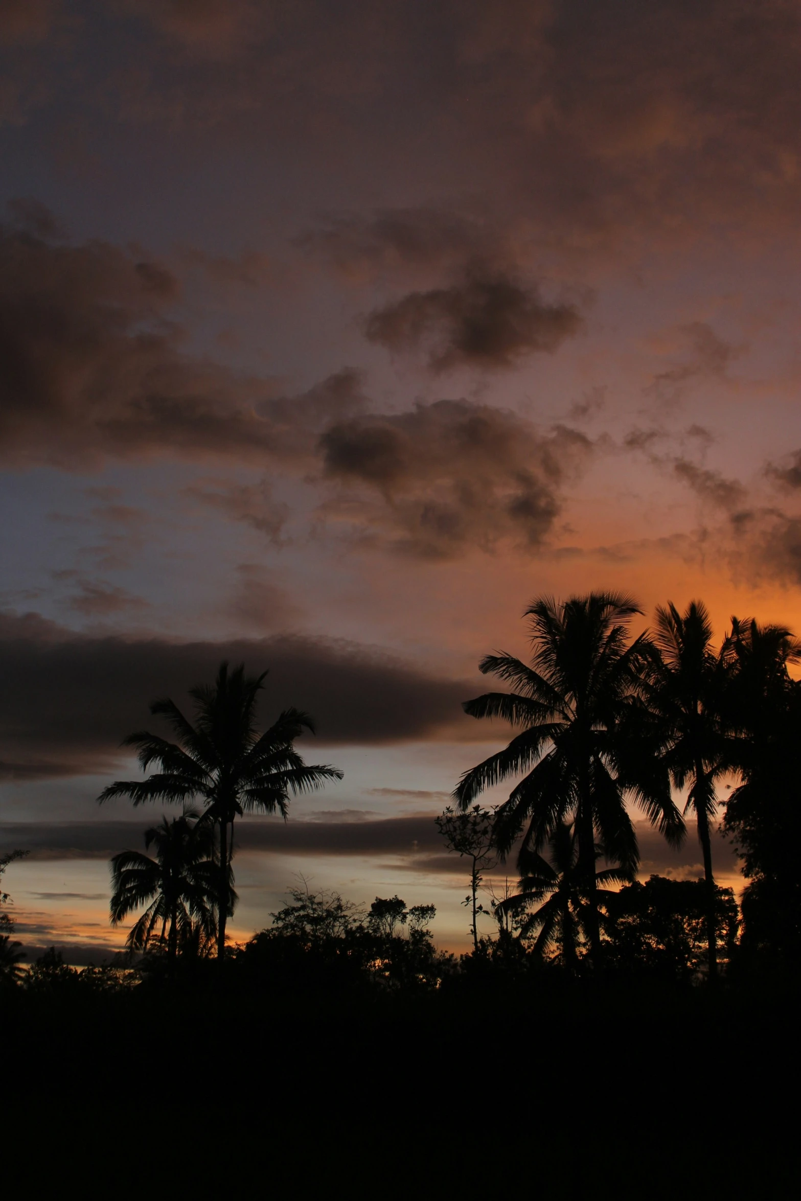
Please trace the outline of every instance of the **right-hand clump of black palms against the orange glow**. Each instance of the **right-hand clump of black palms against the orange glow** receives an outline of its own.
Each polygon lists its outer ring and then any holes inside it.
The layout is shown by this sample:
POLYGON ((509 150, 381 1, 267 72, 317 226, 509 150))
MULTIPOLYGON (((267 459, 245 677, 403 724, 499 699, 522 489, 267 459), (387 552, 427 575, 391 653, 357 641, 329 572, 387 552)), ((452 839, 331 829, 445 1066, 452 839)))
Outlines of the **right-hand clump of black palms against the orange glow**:
MULTIPOLYGON (((539 954, 557 954, 563 962, 586 954, 599 964, 608 957, 606 886, 633 885, 639 864, 629 802, 673 847, 681 846, 692 813, 704 860, 703 888, 693 896, 705 897, 713 976, 730 937, 722 946, 711 831, 717 788, 734 775, 741 783, 725 829, 751 878, 743 940, 797 957, 801 879, 791 848, 801 820, 794 764, 801 685, 789 667, 801 662, 801 643, 783 627, 735 617, 716 650, 700 602, 683 614, 673 604, 657 609, 653 632, 632 640, 629 623, 640 611, 616 593, 562 603, 542 597, 526 610, 531 664, 507 653, 483 659, 480 670, 514 691, 486 693, 465 710, 501 718, 518 733, 462 776, 455 789, 465 827, 459 832, 470 832, 470 815, 476 824, 486 814, 476 806, 482 791, 515 778, 509 799, 494 811, 491 841, 501 858, 518 844, 520 883, 497 913, 518 922, 520 937, 533 939, 539 954), (674 802, 682 790, 683 814, 674 802), (600 856, 609 866, 599 872, 600 856)), ((464 854, 449 837, 454 817, 447 811, 441 829, 448 846, 464 854)), ((473 896, 476 877, 473 860, 473 896)), ((473 901, 474 939, 476 914, 473 901)))

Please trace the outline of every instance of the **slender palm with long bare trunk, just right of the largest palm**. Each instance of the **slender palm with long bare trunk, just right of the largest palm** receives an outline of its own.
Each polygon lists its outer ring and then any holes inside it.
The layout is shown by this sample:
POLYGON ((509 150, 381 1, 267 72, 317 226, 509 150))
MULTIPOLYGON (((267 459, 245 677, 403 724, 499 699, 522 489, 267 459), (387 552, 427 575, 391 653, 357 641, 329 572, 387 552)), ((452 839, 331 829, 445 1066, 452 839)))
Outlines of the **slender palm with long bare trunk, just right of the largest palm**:
POLYGON ((647 704, 663 730, 662 761, 673 784, 689 784, 685 813, 694 811, 706 880, 706 943, 710 979, 717 973, 716 898, 710 827, 716 784, 730 770, 734 743, 727 728, 727 656, 712 646, 706 605, 691 600, 681 615, 669 602, 656 613, 656 656, 647 704))

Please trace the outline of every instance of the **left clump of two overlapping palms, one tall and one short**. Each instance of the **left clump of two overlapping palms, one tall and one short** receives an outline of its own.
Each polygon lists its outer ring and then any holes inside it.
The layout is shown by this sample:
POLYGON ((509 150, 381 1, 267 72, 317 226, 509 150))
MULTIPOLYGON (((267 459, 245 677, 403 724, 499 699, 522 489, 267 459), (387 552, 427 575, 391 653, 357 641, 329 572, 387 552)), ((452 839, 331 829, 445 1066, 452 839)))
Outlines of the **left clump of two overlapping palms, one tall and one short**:
POLYGON ((190 689, 195 721, 169 698, 156 700, 150 712, 162 717, 174 741, 139 730, 124 745, 136 747, 145 779, 115 781, 101 793, 104 803, 118 796, 133 805, 147 802, 189 805, 202 813, 166 820, 147 835, 156 846, 156 859, 122 852, 113 860, 112 921, 147 906, 131 932, 132 950, 147 949, 154 936, 167 939, 173 958, 178 951, 216 939, 225 954, 226 925, 234 912, 234 824, 245 813, 287 815, 289 796, 313 791, 342 772, 328 764, 309 765, 294 748, 304 730, 313 733, 307 713, 287 709, 258 733, 256 707, 263 688, 261 676, 245 675, 244 664, 228 670, 221 663, 213 685, 190 689), (193 824, 192 824, 193 823, 193 824))

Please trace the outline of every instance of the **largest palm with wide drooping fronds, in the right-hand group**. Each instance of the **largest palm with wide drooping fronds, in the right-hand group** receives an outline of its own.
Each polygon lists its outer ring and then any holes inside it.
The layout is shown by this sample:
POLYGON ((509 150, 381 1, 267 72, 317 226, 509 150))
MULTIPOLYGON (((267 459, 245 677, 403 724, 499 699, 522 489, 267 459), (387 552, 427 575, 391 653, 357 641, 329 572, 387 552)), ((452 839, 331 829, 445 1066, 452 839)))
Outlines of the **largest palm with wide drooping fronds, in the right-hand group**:
POLYGON ((624 795, 633 795, 670 842, 683 837, 666 776, 646 753, 657 736, 640 700, 650 644, 644 634, 628 640, 629 621, 640 611, 630 597, 614 592, 561 603, 540 597, 525 613, 532 665, 507 653, 488 655, 479 664, 516 691, 486 693, 464 706, 473 717, 500 717, 522 729, 503 751, 465 772, 454 796, 466 809, 485 788, 526 772, 495 824, 496 846, 507 854, 528 821, 521 866, 531 852, 542 852, 560 823, 570 821, 593 957, 599 943, 596 841, 624 872, 639 860, 624 795))

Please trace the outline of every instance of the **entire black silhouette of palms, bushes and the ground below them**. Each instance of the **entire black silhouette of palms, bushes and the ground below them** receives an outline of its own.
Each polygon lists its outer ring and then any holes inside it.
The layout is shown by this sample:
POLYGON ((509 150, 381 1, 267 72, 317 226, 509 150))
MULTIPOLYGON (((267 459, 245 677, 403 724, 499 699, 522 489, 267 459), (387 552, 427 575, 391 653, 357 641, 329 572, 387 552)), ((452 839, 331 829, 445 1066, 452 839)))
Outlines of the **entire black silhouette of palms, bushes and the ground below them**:
POLYGON ((295 751, 306 715, 258 731, 262 677, 241 668, 195 691, 192 721, 156 703, 173 740, 133 734, 150 775, 101 797, 181 808, 112 862, 126 955, 23 968, 2 894, 7 1146, 46 1130, 65 1167, 181 1193, 474 1191, 519 1172, 567 1196, 795 1195, 777 1071, 801 1060, 801 647, 751 620, 715 645, 699 603, 632 638, 636 611, 540 599, 531 662, 483 661, 506 688, 465 707, 513 737, 437 819, 468 883, 460 957, 436 948, 432 906, 307 888, 227 944, 237 821, 339 772, 295 751), (715 880, 722 801, 741 907, 715 880), (699 839, 701 879, 638 879, 630 805, 674 846, 699 839))

